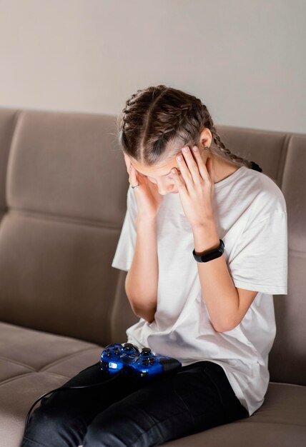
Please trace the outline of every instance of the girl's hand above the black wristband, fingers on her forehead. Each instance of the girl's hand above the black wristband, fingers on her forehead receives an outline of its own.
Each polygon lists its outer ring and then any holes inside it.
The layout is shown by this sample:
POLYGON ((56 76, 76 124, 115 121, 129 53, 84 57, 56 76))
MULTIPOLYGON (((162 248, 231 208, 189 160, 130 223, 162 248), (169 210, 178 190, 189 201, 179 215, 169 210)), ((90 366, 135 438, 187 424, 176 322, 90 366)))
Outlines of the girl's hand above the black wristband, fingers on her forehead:
POLYGON ((177 159, 182 177, 172 170, 174 183, 179 191, 179 199, 189 224, 201 226, 214 219, 212 200, 214 196, 214 166, 209 157, 206 164, 199 154, 199 148, 193 146, 195 151, 187 152, 182 149, 182 160, 177 159), (184 156, 183 156, 184 155, 184 156))

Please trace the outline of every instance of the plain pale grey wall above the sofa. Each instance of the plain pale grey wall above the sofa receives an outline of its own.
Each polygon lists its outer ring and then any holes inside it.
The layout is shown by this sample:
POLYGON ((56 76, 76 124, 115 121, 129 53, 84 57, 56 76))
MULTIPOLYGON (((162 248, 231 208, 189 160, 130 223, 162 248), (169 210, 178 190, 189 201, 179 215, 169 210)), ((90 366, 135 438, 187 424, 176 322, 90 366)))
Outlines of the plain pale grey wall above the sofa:
POLYGON ((118 114, 137 89, 306 132, 305 0, 0 0, 0 106, 118 114))

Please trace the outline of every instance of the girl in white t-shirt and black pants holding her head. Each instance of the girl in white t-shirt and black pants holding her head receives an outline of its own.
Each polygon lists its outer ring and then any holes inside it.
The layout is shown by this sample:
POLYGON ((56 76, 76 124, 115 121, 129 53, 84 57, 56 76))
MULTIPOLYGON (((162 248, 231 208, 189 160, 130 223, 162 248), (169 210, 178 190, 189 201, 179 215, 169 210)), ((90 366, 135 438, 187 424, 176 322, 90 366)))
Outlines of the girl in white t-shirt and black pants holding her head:
MULTIPOLYGON (((207 107, 177 89, 133 94, 119 140, 130 186, 112 266, 128 272, 139 316, 126 341, 182 369, 54 393, 31 416, 24 447, 160 446, 251 416, 264 401, 272 295, 287 293, 282 191, 232 154, 207 107)), ((107 378, 96 363, 65 386, 107 378)))

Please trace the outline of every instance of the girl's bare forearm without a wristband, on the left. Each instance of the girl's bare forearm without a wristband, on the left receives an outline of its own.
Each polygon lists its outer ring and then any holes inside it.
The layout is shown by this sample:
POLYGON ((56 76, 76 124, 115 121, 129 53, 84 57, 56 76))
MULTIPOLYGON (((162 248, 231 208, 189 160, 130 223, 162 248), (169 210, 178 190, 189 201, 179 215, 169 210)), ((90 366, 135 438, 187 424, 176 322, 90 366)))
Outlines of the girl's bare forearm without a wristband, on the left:
POLYGON ((157 309, 157 221, 137 216, 134 258, 125 280, 125 291, 135 315, 149 323, 157 309))

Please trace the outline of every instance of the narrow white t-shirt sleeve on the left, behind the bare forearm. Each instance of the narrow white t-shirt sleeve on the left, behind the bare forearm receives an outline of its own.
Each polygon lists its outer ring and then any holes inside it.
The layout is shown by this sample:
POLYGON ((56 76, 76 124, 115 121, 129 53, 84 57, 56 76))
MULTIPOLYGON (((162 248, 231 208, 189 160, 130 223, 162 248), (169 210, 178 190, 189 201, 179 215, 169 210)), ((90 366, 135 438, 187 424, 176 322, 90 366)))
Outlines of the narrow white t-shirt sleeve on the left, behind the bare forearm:
POLYGON ((129 271, 134 257, 136 244, 136 224, 137 217, 137 201, 133 196, 131 186, 127 190, 127 212, 122 224, 122 231, 117 243, 116 252, 112 261, 112 267, 120 270, 129 271))

